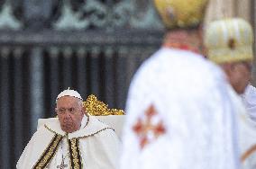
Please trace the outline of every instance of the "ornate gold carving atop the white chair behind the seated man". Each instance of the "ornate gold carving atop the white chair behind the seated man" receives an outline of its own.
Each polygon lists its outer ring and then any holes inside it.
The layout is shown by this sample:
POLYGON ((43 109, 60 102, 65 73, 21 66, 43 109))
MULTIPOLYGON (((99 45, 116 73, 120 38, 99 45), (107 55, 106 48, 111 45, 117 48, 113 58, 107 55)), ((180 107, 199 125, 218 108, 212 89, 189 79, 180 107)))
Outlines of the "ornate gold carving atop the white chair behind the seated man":
POLYGON ((96 96, 91 94, 87 97, 87 101, 83 102, 87 113, 93 116, 107 116, 107 115, 123 115, 123 110, 108 109, 107 104, 98 101, 96 96))

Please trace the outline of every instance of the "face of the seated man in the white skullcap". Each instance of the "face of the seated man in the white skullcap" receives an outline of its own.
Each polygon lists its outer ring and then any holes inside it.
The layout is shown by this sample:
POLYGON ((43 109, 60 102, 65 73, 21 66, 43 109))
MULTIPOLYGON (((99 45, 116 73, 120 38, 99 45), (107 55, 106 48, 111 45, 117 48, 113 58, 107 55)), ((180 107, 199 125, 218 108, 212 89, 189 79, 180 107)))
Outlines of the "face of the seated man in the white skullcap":
POLYGON ((55 111, 58 114, 62 130, 71 133, 80 129, 84 111, 81 101, 78 98, 71 96, 60 97, 57 101, 55 111))

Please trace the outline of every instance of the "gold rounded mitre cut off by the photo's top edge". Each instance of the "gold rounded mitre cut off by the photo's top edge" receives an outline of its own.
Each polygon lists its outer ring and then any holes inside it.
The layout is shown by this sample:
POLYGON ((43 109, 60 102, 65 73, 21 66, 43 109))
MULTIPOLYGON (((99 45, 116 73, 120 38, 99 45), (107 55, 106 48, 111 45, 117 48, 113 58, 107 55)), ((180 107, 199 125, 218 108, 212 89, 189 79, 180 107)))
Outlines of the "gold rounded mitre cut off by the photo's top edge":
POLYGON ((154 0, 168 29, 196 27, 204 19, 207 0, 154 0))

